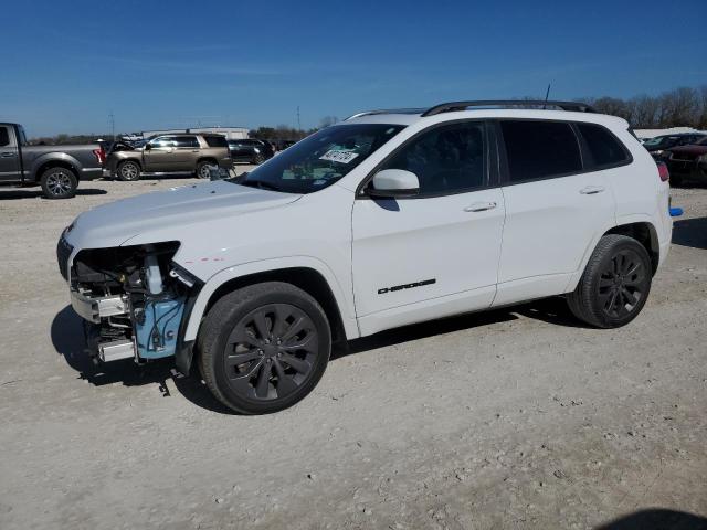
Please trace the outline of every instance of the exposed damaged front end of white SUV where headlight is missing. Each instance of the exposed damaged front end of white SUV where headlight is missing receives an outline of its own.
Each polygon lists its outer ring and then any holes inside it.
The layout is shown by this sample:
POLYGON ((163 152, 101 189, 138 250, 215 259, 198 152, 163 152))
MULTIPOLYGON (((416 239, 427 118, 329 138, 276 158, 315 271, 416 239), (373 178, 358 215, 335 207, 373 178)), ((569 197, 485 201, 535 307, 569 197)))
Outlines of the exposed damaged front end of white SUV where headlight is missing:
POLYGON ((71 269, 74 310, 96 359, 173 356, 187 301, 200 283, 172 263, 178 242, 81 251, 71 269))

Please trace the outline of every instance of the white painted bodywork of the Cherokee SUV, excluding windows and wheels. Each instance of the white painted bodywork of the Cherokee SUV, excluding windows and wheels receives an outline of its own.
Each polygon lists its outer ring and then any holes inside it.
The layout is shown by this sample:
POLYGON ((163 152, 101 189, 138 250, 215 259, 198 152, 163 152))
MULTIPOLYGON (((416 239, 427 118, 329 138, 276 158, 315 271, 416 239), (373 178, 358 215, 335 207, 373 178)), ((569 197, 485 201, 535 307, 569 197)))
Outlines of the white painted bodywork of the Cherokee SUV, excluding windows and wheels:
MULTIPOLYGON (((389 114, 352 123, 407 127, 336 184, 296 195, 203 183, 117 201, 80 215, 75 250, 179 241, 173 261, 203 282, 186 328, 198 332, 211 295, 258 272, 308 267, 329 285, 349 339, 404 324, 484 309, 574 288, 599 239, 616 224, 655 227, 661 263, 669 247, 669 187, 645 149, 612 116, 559 110, 475 109, 430 117, 389 114), (458 193, 380 202, 356 199, 363 179, 416 132, 458 119, 588 121, 630 149, 623 168, 458 193), (585 186, 599 194, 582 195, 585 186), (495 202, 477 213, 464 208, 495 202), (392 205, 392 204, 391 204, 392 205), (386 287, 435 283, 379 295, 386 287)), ((267 162, 266 162, 267 163, 267 162)))

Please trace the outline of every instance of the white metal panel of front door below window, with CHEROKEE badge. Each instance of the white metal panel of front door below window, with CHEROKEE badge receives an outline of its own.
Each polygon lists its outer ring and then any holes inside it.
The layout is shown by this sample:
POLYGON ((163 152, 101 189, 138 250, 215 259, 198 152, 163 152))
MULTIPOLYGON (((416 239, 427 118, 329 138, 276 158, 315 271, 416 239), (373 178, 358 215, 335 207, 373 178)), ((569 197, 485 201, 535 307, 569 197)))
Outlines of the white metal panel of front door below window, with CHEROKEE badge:
MULTIPOLYGON (((422 308, 425 300, 462 293, 466 310, 489 307, 504 218, 499 189, 398 201, 357 200, 352 271, 358 317, 370 321, 379 315, 380 329, 386 329, 387 310, 415 304, 422 308), (465 211, 481 202, 496 203, 496 208, 465 211), (432 279, 433 284, 414 286, 432 279), (380 293, 401 285, 413 287, 380 293)), ((424 319, 415 317, 413 308, 405 314, 409 319, 400 321, 397 316, 395 325, 424 319)))

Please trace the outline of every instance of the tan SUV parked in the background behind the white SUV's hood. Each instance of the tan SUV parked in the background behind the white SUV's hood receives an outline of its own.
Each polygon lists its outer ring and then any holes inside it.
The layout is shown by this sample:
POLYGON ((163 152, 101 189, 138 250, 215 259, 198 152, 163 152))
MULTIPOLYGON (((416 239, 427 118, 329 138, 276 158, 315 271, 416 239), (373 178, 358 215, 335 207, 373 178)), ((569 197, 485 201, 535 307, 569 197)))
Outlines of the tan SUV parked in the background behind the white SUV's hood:
POLYGON ((138 180, 144 172, 193 171, 200 179, 210 178, 210 166, 233 166, 229 145, 222 135, 162 135, 144 144, 116 142, 106 167, 120 180, 138 180))

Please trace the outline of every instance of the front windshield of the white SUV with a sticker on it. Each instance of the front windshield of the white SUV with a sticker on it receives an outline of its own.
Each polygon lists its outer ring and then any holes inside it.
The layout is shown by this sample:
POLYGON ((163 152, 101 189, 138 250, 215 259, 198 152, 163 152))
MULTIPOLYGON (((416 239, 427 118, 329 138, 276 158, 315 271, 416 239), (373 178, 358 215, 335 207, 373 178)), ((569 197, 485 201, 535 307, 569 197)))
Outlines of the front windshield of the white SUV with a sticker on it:
POLYGON ((319 191, 349 173, 403 128, 383 124, 327 127, 234 182, 286 193, 319 191))

